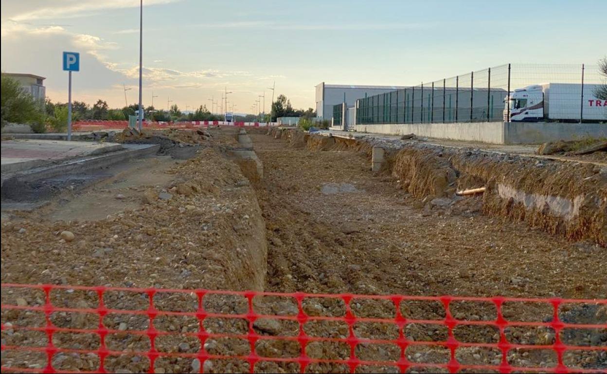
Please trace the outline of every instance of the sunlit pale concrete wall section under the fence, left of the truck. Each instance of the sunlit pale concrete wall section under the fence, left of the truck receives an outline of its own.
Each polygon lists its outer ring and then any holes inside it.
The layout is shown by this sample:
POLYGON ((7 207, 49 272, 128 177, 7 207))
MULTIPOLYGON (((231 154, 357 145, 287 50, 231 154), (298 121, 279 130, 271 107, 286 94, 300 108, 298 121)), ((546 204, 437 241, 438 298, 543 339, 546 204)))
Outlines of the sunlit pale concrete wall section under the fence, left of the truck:
POLYGON ((356 131, 504 144, 503 122, 356 125, 356 131))

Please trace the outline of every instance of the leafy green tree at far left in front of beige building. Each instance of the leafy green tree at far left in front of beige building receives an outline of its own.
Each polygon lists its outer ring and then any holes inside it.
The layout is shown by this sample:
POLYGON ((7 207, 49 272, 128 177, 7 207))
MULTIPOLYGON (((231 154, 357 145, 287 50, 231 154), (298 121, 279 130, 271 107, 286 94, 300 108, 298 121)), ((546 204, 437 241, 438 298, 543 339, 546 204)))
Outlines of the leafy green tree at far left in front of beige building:
POLYGON ((8 122, 29 124, 36 132, 44 130, 44 105, 36 101, 15 79, 2 74, 0 87, 2 127, 8 122))

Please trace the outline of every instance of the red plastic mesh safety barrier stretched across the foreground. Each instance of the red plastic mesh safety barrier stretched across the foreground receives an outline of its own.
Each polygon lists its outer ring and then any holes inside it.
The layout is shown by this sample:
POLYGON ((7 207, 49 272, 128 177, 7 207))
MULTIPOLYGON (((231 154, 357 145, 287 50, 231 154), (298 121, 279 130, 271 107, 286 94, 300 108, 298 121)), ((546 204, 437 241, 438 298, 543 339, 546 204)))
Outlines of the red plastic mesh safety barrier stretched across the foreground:
POLYGON ((174 372, 183 360, 200 373, 607 373, 607 299, 2 284, 2 372, 174 372), (89 367, 64 365, 77 357, 89 367))

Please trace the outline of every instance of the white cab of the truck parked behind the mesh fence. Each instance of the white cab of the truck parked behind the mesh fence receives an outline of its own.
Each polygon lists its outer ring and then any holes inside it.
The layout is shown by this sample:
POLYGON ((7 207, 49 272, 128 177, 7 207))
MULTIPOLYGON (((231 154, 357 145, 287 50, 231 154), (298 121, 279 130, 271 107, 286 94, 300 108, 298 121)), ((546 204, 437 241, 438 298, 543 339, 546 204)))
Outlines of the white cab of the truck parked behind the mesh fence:
POLYGON ((544 92, 541 85, 518 88, 510 93, 510 102, 504 98, 504 121, 537 122, 544 119, 544 92), (510 119, 508 119, 510 109, 510 119))

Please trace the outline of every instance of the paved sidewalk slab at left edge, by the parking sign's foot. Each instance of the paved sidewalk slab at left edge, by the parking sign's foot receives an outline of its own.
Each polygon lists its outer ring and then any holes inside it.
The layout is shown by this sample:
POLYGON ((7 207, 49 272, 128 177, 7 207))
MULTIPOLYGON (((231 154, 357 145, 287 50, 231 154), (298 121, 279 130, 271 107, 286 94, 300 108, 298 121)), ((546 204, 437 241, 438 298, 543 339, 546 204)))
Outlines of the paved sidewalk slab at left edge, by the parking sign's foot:
POLYGON ((32 169, 51 162, 101 155, 123 149, 122 144, 61 140, 2 141, 2 173, 32 169))

